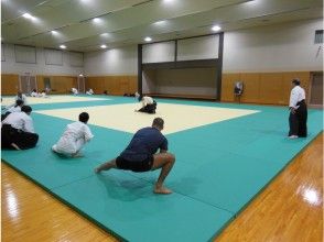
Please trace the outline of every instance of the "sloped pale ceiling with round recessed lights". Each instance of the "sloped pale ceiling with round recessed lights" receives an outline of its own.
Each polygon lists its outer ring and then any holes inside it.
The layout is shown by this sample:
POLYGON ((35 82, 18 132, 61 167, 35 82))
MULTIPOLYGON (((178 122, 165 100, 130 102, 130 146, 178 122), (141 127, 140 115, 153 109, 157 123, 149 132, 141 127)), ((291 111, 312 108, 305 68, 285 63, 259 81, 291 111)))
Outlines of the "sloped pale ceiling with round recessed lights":
POLYGON ((322 0, 1 0, 1 41, 89 52, 317 18, 322 0))

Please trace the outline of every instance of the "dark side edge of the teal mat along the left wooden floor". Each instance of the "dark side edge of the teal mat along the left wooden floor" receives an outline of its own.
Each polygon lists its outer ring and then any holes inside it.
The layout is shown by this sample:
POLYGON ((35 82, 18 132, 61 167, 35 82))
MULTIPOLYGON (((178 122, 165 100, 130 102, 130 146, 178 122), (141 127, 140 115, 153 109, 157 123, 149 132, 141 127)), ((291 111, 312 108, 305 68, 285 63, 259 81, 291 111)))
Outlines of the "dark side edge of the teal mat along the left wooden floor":
POLYGON ((28 178, 29 180, 31 180, 33 184, 37 185, 39 187, 41 187, 44 191, 48 193, 53 198, 57 199, 58 201, 63 202, 64 205, 68 206, 71 209, 73 209, 74 211, 76 211, 77 213, 79 213, 80 216, 83 216, 85 219, 89 220, 90 222, 95 223, 96 226, 98 226, 100 229, 105 230, 106 232, 108 232, 109 234, 111 234, 112 237, 117 238, 117 240, 119 241, 125 241, 128 242, 128 240, 126 240, 123 237, 119 235, 118 233, 114 232, 112 230, 110 230, 108 227, 105 227, 104 224, 101 224, 100 222, 98 222, 97 220, 93 219, 90 216, 88 216, 87 213, 83 212, 82 210, 79 210, 77 207, 73 206, 72 204, 69 204, 68 201, 66 201, 65 199, 63 199, 62 197, 60 197, 58 195, 56 195, 55 193, 53 193, 51 189, 46 188, 45 186, 43 186, 41 183, 36 182, 35 179, 33 179, 32 177, 30 177, 29 175, 24 174, 23 172, 21 172, 19 168, 17 168, 15 166, 11 165, 9 162, 7 162, 6 160, 1 158, 1 162, 3 162, 6 165, 8 165, 9 167, 11 167, 12 169, 14 169, 15 172, 18 172, 20 175, 22 175, 23 177, 28 178))

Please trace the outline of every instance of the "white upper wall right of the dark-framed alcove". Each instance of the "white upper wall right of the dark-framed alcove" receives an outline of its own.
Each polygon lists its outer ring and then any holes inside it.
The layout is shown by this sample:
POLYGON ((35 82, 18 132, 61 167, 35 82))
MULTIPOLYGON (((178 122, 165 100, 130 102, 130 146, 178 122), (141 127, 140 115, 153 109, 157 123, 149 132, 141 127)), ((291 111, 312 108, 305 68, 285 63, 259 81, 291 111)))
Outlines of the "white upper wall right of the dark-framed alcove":
MULTIPOLYGON (((314 44, 321 20, 226 32, 223 73, 321 70, 323 48, 314 44)), ((323 47, 323 46, 322 46, 323 47)))

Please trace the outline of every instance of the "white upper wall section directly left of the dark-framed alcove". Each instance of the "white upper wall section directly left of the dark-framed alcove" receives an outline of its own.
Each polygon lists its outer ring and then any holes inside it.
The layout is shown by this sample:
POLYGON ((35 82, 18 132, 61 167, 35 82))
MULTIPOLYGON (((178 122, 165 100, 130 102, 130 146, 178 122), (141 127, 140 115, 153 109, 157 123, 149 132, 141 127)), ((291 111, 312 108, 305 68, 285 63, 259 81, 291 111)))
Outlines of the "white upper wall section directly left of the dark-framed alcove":
POLYGON ((85 53, 86 76, 137 75, 138 46, 85 53))

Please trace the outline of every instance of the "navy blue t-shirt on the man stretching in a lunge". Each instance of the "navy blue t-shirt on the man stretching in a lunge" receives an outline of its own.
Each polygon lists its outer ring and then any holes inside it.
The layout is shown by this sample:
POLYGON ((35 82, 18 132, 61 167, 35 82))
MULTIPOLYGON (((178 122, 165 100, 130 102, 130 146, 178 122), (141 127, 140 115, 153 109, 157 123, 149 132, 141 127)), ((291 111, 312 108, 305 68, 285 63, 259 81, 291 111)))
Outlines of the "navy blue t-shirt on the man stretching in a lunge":
POLYGON ((168 140, 156 128, 148 127, 133 135, 120 157, 130 162, 140 162, 155 154, 159 148, 168 151, 168 140))

